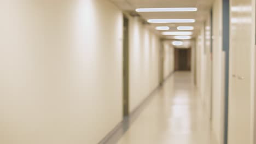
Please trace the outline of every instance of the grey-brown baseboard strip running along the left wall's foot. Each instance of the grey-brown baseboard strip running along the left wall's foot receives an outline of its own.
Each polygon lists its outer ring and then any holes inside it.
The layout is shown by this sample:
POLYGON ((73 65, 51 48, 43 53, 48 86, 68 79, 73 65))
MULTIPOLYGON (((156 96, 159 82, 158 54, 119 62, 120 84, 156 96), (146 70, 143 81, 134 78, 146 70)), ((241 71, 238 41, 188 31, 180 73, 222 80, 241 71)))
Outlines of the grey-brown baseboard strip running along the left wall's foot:
POLYGON ((139 104, 129 116, 126 116, 123 121, 121 121, 114 129, 112 129, 98 144, 114 144, 125 134, 125 132, 130 128, 133 122, 136 121, 137 117, 148 103, 155 96, 154 94, 160 90, 162 85, 174 74, 175 71, 170 73, 160 84, 157 86, 143 101, 139 104))

